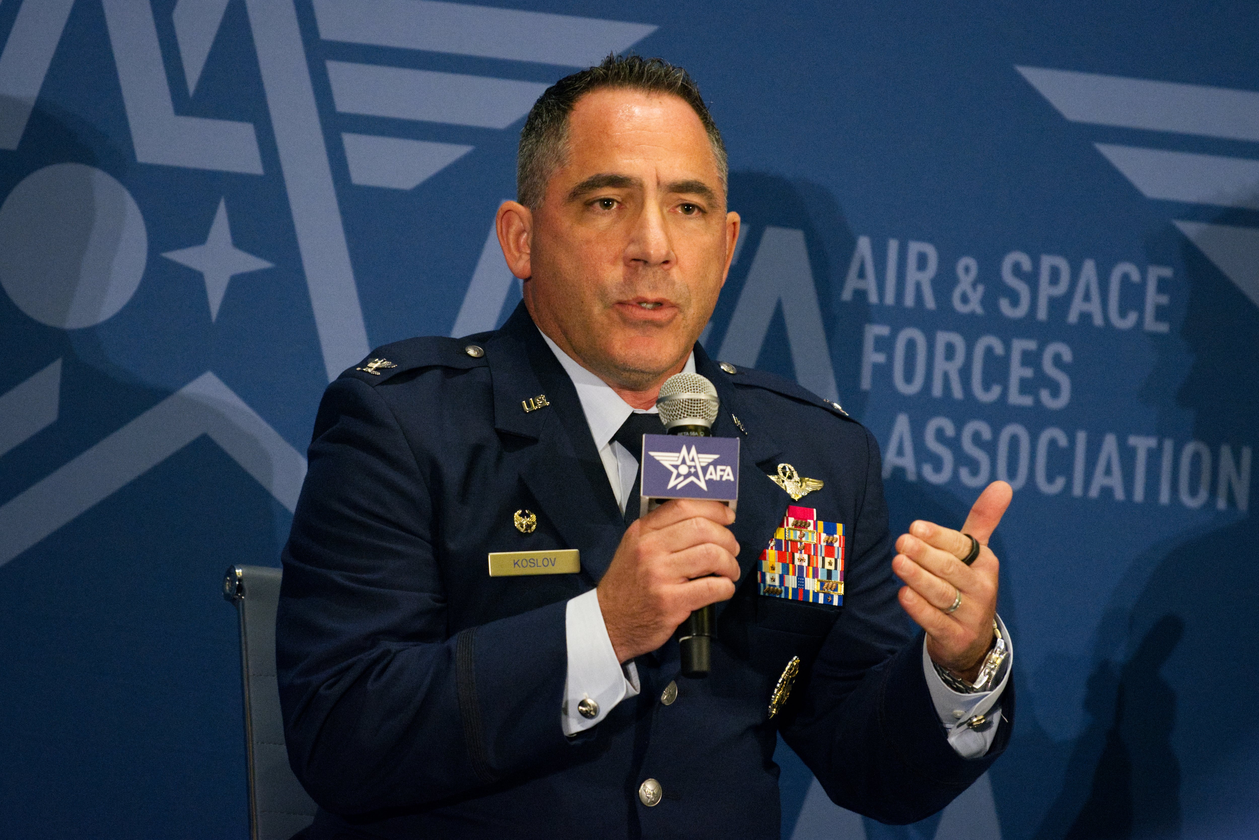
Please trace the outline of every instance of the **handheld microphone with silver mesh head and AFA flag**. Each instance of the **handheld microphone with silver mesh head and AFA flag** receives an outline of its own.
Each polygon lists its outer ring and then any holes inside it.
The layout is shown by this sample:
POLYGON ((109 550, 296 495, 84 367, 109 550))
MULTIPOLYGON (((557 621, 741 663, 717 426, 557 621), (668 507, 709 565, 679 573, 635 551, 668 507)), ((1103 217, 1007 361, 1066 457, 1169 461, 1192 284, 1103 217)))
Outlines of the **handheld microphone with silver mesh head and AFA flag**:
MULTIPOLYGON (((716 420, 721 401, 716 389, 706 377, 697 373, 676 373, 670 376, 660 389, 656 409, 669 435, 682 438, 711 438, 713 421, 716 420)), ((709 445, 692 443, 690 450, 684 444, 680 453, 651 451, 648 438, 643 436, 643 458, 641 480, 642 512, 660 504, 662 498, 716 498, 731 508, 738 503, 738 464, 739 441, 733 438, 711 439, 709 445), (716 445, 720 444, 720 445, 716 445), (731 446, 733 444, 733 446, 731 446), (699 453, 704 449, 704 453, 699 453), (725 450, 725 451, 721 451, 725 450), (731 456, 733 450, 733 456, 731 456), (670 470, 667 485, 648 479, 647 455, 670 470), (723 458, 724 455, 724 458, 723 458), (718 464, 726 460, 729 463, 718 464), (709 484, 713 484, 711 489, 709 484), (690 485, 694 489, 687 492, 690 485), (725 487, 720 487, 725 485, 725 487), (657 489, 658 488, 658 489, 657 489), (665 493, 667 495, 648 495, 665 493)), ((658 438, 657 438, 658 439, 658 438)), ((660 473, 663 479, 663 473, 660 473)), ((681 648, 681 670, 685 677, 706 677, 711 669, 711 643, 714 635, 714 610, 708 605, 691 612, 677 627, 677 643, 681 648)))

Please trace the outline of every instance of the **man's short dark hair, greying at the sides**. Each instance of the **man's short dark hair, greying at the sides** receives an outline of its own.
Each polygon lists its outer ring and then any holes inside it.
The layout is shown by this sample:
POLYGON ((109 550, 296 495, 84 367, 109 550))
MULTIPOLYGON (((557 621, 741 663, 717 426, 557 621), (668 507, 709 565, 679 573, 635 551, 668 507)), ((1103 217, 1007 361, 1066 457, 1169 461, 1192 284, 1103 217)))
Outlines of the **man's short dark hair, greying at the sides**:
POLYGON ((602 88, 667 93, 686 102, 708 133, 721 177, 721 191, 726 190, 729 163, 725 143, 690 73, 660 58, 612 54, 598 67, 565 75, 546 88, 529 111, 525 127, 520 130, 516 153, 516 200, 520 204, 530 210, 541 204, 546 182, 568 158, 568 116, 578 99, 602 88))

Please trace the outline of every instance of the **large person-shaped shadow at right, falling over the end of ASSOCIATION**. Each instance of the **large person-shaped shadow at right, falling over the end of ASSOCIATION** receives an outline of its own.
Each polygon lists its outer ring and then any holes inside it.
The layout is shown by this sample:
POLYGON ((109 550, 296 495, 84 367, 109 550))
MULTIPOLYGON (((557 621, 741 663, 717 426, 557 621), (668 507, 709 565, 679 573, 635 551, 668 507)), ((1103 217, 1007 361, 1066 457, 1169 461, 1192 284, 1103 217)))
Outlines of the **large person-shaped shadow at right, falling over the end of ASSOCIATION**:
MULTIPOLYGON (((1228 211, 1212 221, 1253 226, 1259 214, 1228 211)), ((1147 253, 1151 263, 1183 265, 1188 298, 1182 343, 1152 340, 1158 356, 1141 400, 1160 412, 1157 431, 1177 449, 1188 443, 1177 416, 1188 411, 1194 440, 1215 458, 1228 443, 1239 459, 1240 446, 1255 444, 1259 312, 1173 226, 1152 235, 1147 253)), ((1217 469, 1206 511, 1217 511, 1217 469)), ((1182 507, 1177 490, 1170 503, 1182 507)), ((1144 504, 1158 500, 1147 495, 1144 504)), ((1031 746, 1064 767, 1036 840, 1259 832, 1253 791, 1240 781, 1259 770, 1259 572, 1246 562, 1254 557, 1253 516, 1238 508, 1230 492, 1216 513, 1225 524, 1165 541, 1131 562, 1095 638, 1088 727, 1066 744, 1034 734, 1031 746), (1124 649, 1131 654, 1117 664, 1124 649)))

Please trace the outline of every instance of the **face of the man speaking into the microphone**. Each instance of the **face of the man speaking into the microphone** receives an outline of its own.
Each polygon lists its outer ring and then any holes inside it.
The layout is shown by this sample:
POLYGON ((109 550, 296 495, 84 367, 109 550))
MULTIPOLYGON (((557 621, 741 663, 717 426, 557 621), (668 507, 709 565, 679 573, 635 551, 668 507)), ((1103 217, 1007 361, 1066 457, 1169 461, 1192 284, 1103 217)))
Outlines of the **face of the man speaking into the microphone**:
POLYGON ((691 107, 640 91, 582 97, 568 163, 531 216, 525 304, 543 332, 628 390, 680 370, 739 230, 691 107))

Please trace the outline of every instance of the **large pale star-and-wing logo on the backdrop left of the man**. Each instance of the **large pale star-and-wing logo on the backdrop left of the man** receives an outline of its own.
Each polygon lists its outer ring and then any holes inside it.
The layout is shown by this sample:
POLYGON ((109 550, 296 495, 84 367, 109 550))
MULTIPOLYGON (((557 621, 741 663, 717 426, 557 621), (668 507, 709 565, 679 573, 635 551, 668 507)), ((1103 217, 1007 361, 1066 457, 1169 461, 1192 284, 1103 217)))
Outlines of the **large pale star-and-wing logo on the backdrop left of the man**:
MULTIPOLYGON (((0 53, 0 151, 19 148, 74 5, 74 0, 23 0, 19 6, 0 53)), ((170 13, 175 43, 166 45, 166 53, 178 55, 174 67, 183 70, 189 97, 203 82, 228 5, 228 0, 179 0, 170 13)), ((597 63, 656 29, 431 0, 313 0, 312 8, 319 38, 325 41, 560 67, 597 63)), ((337 201, 336 156, 329 156, 325 123, 349 119, 346 124, 353 127, 363 118, 361 131, 340 132, 349 176, 342 175, 344 180, 409 190, 473 147, 371 131, 381 124, 381 117, 421 132, 433 123, 505 130, 546 87, 378 63, 312 64, 312 45, 303 43, 293 0, 246 0, 279 162, 279 172, 268 172, 259 150, 259 126, 176 113, 181 92, 172 93, 175 82, 164 62, 164 30, 150 0, 101 0, 101 9, 137 163, 248 179, 278 175, 282 180, 329 380, 361 360, 370 342, 337 201), (326 73, 336 113, 320 112, 315 83, 321 79, 312 79, 312 72, 326 73)), ((39 214, 29 213, 47 210, 49 200, 40 195, 50 195, 49 185, 60 190, 54 197, 96 199, 99 207, 107 204, 102 196, 110 199, 126 223, 122 244, 130 248, 131 259, 111 262, 107 254, 89 251, 89 258, 101 258, 101 270, 88 270, 86 258, 82 270, 48 290, 37 277, 38 251, 62 243, 55 233, 40 229, 34 233, 47 235, 35 236, 37 245, 9 249, 16 257, 10 253, 3 260, 0 279, 18 308, 37 321, 65 329, 93 327, 130 301, 144 275, 149 241, 144 213, 127 187, 108 174, 81 163, 54 163, 29 174, 5 199, 8 215, 0 210, 0 236, 6 236, 6 243, 29 241, 33 224, 55 226, 48 221, 53 218, 49 214, 31 221, 39 214)), ((233 245, 227 207, 222 197, 215 200, 218 213, 205 239, 165 253, 203 274, 212 322, 234 277, 272 267, 233 245)), ((98 211, 97 226, 103 213, 98 211)), ((233 207, 233 213, 243 210, 233 207)), ((87 224, 89 229, 73 234, 91 240, 94 228, 87 224)), ((55 423, 60 365, 58 360, 0 395, 0 455, 55 423)), ((0 507, 0 565, 201 435, 223 448, 286 508, 293 508, 305 459, 218 376, 205 372, 0 507)))

